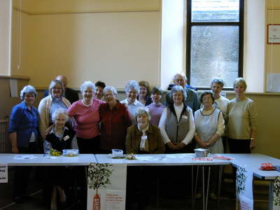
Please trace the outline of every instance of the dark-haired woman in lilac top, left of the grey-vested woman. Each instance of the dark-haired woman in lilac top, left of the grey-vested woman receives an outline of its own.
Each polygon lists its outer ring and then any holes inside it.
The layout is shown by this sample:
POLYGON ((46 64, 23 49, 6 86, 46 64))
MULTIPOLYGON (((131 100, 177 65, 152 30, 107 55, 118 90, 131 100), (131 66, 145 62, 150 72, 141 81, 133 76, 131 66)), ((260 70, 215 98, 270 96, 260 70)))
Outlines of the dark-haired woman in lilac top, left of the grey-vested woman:
POLYGON ((158 126, 160 123, 160 117, 162 116, 162 111, 165 109, 165 106, 160 103, 160 99, 162 98, 162 90, 160 87, 153 87, 151 91, 151 98, 153 103, 146 106, 151 113, 151 124, 158 126))

